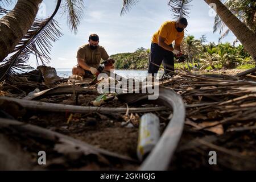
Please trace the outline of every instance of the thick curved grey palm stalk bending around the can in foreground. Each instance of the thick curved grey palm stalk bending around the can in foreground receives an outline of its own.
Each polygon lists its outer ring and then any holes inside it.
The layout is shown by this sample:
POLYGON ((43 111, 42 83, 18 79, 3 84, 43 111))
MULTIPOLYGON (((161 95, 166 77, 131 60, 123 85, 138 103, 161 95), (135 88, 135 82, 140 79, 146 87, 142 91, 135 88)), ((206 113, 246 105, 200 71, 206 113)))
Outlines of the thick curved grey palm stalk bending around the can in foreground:
MULTIPOLYGON (((120 100, 128 103, 147 100, 147 97, 147 94, 122 94, 118 96, 120 100)), ((158 144, 156 144, 139 169, 142 171, 166 170, 183 131, 185 106, 180 96, 177 96, 173 90, 163 87, 159 88, 159 97, 157 100, 148 100, 147 102, 154 102, 154 104, 169 107, 173 110, 173 117, 158 144)))

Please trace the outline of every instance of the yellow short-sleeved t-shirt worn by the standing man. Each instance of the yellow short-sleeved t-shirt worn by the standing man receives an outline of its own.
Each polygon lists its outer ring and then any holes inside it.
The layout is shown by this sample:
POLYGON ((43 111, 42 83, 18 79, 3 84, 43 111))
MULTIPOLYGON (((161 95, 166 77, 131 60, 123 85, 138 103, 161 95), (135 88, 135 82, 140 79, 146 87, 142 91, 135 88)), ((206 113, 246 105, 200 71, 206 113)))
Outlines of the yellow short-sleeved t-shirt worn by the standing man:
POLYGON ((176 45, 180 45, 184 38, 184 31, 178 32, 175 28, 175 22, 167 21, 162 24, 157 32, 155 32, 152 37, 152 43, 158 44, 159 36, 166 39, 164 42, 167 45, 170 45, 174 41, 176 45))

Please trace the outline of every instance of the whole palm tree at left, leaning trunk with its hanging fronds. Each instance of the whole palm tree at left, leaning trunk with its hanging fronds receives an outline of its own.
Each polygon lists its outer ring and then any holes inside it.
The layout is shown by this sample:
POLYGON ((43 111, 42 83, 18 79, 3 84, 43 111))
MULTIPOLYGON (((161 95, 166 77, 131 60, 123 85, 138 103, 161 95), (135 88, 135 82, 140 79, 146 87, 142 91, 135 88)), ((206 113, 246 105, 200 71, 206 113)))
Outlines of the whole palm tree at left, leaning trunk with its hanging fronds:
POLYGON ((60 7, 63 14, 68 16, 70 28, 76 34, 82 18, 83 0, 64 0, 62 4, 61 0, 57 0, 56 9, 49 18, 35 19, 42 1, 18 0, 14 9, 0 19, 0 80, 14 73, 15 68, 27 67, 30 53, 34 53, 42 64, 50 60, 51 42, 55 42, 62 35, 53 19, 60 7), (11 56, 5 59, 10 53, 11 56))

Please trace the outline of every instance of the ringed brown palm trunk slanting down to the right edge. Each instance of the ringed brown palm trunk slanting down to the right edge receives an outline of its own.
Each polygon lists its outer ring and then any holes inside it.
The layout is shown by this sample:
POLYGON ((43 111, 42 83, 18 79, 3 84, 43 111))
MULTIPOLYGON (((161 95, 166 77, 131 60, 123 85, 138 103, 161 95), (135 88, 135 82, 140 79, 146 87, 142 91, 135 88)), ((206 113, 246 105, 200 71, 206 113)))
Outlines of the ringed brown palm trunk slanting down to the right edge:
POLYGON ((251 31, 244 23, 226 8, 220 0, 204 0, 208 5, 216 5, 216 13, 221 20, 236 35, 237 39, 245 46, 246 50, 256 61, 256 33, 251 31))

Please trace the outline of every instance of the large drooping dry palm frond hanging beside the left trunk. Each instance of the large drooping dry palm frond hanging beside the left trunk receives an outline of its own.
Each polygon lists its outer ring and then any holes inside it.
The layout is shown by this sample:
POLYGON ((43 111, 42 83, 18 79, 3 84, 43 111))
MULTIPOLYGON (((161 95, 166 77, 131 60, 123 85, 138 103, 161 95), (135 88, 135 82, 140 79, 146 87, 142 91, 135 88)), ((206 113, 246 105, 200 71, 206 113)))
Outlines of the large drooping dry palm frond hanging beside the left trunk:
POLYGON ((17 68, 27 67, 26 62, 31 53, 36 56, 36 59, 39 57, 43 64, 51 59, 49 57, 49 51, 52 48, 51 42, 56 42, 62 35, 58 30, 57 22, 53 19, 60 2, 61 0, 57 2, 56 9, 50 18, 35 20, 27 34, 11 52, 12 55, 3 60, 0 65, 0 80, 9 78, 17 68))

